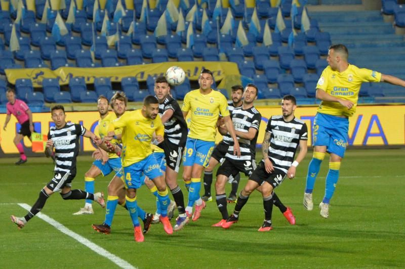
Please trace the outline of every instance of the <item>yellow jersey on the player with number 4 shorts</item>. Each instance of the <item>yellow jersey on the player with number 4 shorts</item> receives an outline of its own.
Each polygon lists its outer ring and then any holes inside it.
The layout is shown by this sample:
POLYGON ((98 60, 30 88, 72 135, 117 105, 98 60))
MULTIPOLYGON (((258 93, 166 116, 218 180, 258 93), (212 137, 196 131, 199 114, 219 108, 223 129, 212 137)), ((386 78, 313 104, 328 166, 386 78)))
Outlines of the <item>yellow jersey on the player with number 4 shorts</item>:
POLYGON ((165 135, 165 127, 161 123, 159 115, 153 120, 145 118, 140 109, 127 111, 108 126, 109 131, 117 128, 123 128, 121 161, 124 167, 139 162, 152 154, 150 143, 154 132, 157 136, 165 135))

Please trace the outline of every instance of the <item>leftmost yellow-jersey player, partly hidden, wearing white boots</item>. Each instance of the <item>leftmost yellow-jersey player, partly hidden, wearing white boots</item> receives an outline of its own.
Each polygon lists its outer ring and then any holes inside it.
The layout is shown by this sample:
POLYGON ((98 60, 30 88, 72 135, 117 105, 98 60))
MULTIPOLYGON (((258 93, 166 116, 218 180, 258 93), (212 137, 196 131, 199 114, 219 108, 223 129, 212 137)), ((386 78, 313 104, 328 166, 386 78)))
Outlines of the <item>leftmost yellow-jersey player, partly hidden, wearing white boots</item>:
MULTIPOLYGON (((111 121, 124 114, 125 110, 119 108, 115 113, 108 112, 108 99, 104 96, 100 96, 97 100, 97 110, 100 114, 100 120, 98 121, 98 132, 100 138, 103 139, 107 135, 107 128, 111 121)), ((111 141, 116 143, 116 141, 111 141)), ((106 176, 112 171, 115 172, 115 176, 121 177, 121 159, 115 153, 107 153, 100 147, 97 149, 97 154, 100 155, 99 160, 95 160, 90 169, 85 173, 85 191, 94 193, 94 180, 97 176, 102 174, 106 176)), ((93 214, 92 200, 86 200, 85 207, 80 208, 79 211, 73 213, 73 215, 93 214)))

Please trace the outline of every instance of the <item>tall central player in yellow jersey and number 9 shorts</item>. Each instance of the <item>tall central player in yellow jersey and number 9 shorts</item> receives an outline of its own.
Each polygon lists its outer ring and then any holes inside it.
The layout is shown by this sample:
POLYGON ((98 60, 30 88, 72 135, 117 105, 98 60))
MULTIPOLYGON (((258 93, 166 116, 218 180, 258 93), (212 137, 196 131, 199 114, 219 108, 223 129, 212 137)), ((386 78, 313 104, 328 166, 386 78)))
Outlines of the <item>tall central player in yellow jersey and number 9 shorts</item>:
POLYGON ((232 120, 229 116, 228 103, 220 92, 214 91, 212 72, 203 69, 198 78, 199 89, 186 94, 183 101, 183 116, 190 112, 190 130, 187 136, 183 157, 183 180, 188 192, 186 213, 191 216, 195 202, 195 212, 192 220, 199 218, 201 210, 205 208, 205 201, 200 198, 201 173, 208 166, 211 153, 215 147, 215 135, 218 115, 221 113, 229 134, 234 142, 233 153, 240 156, 239 143, 235 135, 232 120))

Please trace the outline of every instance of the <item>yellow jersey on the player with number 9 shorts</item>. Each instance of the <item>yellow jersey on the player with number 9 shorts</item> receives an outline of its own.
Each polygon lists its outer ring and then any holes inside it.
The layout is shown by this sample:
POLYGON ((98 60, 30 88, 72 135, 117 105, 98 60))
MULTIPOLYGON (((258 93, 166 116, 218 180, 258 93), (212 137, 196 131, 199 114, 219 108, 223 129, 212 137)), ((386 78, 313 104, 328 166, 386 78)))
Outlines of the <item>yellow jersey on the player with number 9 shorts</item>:
POLYGON ((212 90, 208 95, 199 89, 188 92, 184 97, 182 111, 191 111, 189 138, 203 141, 215 141, 219 113, 229 116, 228 103, 223 94, 212 90))

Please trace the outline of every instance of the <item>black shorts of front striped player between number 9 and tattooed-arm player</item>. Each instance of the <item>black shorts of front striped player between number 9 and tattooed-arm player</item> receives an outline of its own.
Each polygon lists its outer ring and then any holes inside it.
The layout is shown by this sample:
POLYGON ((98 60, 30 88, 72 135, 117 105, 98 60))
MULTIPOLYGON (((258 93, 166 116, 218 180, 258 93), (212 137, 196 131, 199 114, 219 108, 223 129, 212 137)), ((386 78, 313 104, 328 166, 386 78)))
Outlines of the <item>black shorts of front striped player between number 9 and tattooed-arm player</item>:
POLYGON ((256 169, 256 160, 251 157, 250 160, 233 160, 230 158, 225 158, 224 162, 217 170, 217 176, 223 174, 226 177, 231 175, 235 177, 239 172, 244 172, 247 176, 250 176, 256 169))

